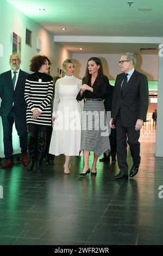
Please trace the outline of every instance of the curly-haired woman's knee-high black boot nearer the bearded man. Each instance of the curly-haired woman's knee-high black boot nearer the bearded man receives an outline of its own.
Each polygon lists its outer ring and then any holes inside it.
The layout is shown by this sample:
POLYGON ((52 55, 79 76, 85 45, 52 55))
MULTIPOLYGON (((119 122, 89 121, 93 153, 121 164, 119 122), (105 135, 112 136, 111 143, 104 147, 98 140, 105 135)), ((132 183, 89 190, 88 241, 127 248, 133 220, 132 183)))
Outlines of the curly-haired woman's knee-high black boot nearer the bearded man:
POLYGON ((30 162, 27 170, 32 171, 35 164, 35 135, 32 132, 28 132, 28 152, 30 162))

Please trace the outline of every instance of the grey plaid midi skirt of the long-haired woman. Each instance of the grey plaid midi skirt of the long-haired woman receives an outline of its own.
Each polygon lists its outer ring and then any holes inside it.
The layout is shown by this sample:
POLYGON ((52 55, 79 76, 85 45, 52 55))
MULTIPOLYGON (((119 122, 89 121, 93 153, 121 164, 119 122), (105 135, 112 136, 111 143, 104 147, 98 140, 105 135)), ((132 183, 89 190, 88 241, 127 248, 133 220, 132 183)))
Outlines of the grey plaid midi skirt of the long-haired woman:
POLYGON ((109 131, 103 101, 86 100, 82 112, 80 151, 93 151, 96 155, 110 152, 109 131))

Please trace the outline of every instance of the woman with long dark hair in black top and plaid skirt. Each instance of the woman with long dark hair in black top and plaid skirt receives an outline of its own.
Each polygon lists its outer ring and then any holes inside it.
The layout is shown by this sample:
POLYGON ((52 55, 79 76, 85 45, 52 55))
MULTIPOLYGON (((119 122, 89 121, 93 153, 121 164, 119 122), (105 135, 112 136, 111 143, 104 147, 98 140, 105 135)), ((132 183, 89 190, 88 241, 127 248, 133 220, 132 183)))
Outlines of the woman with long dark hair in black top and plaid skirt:
POLYGON ((92 57, 87 61, 86 75, 83 78, 77 100, 85 99, 82 114, 82 133, 80 151, 83 150, 84 168, 80 175, 96 175, 99 156, 110 152, 109 132, 103 100, 108 93, 109 80, 103 75, 101 60, 92 57), (89 168, 89 155, 93 151, 92 168, 89 168))

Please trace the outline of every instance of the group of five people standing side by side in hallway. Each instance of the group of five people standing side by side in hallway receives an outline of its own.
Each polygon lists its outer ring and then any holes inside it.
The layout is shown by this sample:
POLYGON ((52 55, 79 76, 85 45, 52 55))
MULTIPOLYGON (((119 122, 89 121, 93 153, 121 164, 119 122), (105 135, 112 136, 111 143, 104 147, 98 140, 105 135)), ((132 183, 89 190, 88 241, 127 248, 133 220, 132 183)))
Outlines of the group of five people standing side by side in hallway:
MULTIPOLYGON (((11 70, 0 76, 0 115, 6 159, 2 168, 9 168, 14 164, 12 125, 15 121, 24 166, 28 165, 28 127, 29 171, 33 170, 36 162, 36 172, 42 172, 41 160, 45 152, 47 130, 49 126, 53 126, 49 154, 65 155, 64 173, 70 174, 71 156, 83 153, 84 168, 79 175, 96 175, 98 157, 102 154, 108 157, 110 153, 106 120, 108 109, 103 102, 107 101, 110 94, 109 80, 103 74, 101 60, 92 57, 87 61, 83 80, 74 77, 75 65, 71 59, 63 62, 65 76, 55 83, 53 111, 53 78, 48 75, 51 61, 46 56, 33 57, 30 63, 33 74, 30 75, 20 70, 20 64, 20 58, 13 53, 10 56, 11 70), (80 107, 80 101, 84 101, 83 109, 80 107), (91 169, 90 151, 94 154, 91 169)), ((130 145, 133 157, 130 177, 138 172, 140 164, 139 136, 143 121, 146 121, 148 82, 145 75, 134 69, 135 64, 133 53, 123 53, 119 62, 122 74, 117 76, 115 82, 110 126, 112 131, 115 127, 117 131, 117 161, 120 173, 114 180, 128 178, 126 142, 130 145)), ((112 160, 116 161, 115 156, 112 156, 112 160)))

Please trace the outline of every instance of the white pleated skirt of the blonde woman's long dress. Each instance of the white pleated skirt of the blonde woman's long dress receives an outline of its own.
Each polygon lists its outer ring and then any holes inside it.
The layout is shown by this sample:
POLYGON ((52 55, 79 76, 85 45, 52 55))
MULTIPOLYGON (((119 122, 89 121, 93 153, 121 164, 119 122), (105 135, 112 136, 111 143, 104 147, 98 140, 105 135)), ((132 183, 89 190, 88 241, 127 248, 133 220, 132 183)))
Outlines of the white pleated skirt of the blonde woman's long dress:
POLYGON ((49 154, 79 156, 82 110, 77 100, 61 100, 53 123, 49 154))

